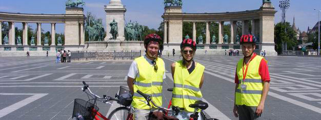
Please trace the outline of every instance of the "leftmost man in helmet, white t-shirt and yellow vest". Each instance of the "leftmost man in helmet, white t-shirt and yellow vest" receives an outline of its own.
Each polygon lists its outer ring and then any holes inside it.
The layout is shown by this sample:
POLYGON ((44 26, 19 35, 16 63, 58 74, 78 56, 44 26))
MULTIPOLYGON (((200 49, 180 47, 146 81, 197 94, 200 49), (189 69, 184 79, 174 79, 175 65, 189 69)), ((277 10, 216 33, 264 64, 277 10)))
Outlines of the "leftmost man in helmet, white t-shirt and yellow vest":
POLYGON ((149 94, 156 105, 162 106, 163 79, 166 78, 165 63, 157 57, 158 50, 163 46, 162 38, 149 34, 144 39, 144 46, 146 55, 134 59, 127 75, 127 84, 133 94, 131 105, 134 108, 134 117, 139 120, 147 119, 154 106, 150 107, 142 102, 146 100, 136 91, 149 94))

